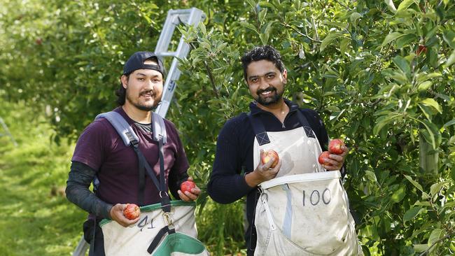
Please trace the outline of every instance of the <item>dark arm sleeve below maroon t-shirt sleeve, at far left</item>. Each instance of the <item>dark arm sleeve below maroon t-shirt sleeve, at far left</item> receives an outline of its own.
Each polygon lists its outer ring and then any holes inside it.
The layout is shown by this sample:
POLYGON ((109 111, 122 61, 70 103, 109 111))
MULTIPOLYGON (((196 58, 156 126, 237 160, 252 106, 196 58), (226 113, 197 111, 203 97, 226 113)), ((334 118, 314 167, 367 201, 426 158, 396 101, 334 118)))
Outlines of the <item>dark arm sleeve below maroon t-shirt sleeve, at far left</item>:
POLYGON ((110 219, 112 205, 105 203, 88 189, 95 173, 87 164, 71 162, 71 170, 66 180, 66 197, 76 206, 97 217, 110 219))

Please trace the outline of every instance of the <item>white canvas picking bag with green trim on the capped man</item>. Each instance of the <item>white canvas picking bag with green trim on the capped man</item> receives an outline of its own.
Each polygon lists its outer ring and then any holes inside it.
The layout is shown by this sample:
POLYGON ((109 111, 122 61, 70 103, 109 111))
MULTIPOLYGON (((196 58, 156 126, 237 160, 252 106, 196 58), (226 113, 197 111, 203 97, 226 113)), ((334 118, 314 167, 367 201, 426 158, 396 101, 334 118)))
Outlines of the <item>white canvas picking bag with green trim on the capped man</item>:
POLYGON ((141 207, 140 219, 130 227, 123 227, 112 220, 102 220, 99 226, 104 234, 104 251, 113 256, 180 256, 209 255, 204 245, 197 240, 195 203, 171 201, 171 211, 165 214, 161 204, 141 207), (170 227, 176 232, 164 239, 160 232, 170 227))

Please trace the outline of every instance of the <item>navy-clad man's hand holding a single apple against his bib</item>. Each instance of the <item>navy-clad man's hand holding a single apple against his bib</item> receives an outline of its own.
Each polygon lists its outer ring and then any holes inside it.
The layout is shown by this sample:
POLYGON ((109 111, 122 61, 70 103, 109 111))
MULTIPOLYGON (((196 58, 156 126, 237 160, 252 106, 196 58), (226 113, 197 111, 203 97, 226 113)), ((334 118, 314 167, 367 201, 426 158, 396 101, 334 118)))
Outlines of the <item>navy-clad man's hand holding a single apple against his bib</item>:
MULTIPOLYGON (((260 150, 259 159, 262 159, 262 154, 264 154, 264 150, 260 150)), ((269 159, 269 162, 266 162, 265 164, 262 164, 259 161, 256 169, 251 173, 247 173, 245 175, 246 184, 248 184, 250 187, 255 187, 264 181, 272 180, 272 178, 275 178, 276 173, 278 173, 279 169, 281 168, 281 159, 279 159, 278 164, 276 164, 274 168, 270 168, 274 161, 274 157, 271 157, 269 159)))

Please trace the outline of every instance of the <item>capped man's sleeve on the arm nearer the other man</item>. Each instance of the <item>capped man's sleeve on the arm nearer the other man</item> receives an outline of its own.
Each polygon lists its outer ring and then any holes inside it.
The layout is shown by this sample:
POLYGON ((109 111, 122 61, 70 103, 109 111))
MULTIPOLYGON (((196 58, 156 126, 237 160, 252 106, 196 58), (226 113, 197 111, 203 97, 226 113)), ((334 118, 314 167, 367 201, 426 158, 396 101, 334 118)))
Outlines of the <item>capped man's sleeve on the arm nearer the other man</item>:
POLYGON ((177 190, 180 189, 181 183, 188 179, 187 171, 190 167, 190 164, 188 164, 188 158, 186 157, 186 152, 183 148, 183 144, 179 136, 179 131, 177 131, 172 122, 169 121, 168 124, 169 126, 167 129, 170 131, 169 136, 172 136, 172 139, 176 144, 176 159, 174 160, 174 165, 169 172, 169 191, 176 199, 180 199, 177 190))

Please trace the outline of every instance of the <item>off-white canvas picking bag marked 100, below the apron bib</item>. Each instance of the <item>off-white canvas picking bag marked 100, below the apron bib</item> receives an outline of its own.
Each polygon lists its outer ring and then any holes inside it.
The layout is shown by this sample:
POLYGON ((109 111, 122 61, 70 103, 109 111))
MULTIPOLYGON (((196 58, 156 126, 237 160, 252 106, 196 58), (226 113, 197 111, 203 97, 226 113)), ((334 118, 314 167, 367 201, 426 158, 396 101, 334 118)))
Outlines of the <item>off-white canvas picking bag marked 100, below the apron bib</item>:
POLYGON ((260 184, 255 255, 363 255, 339 171, 260 184))

